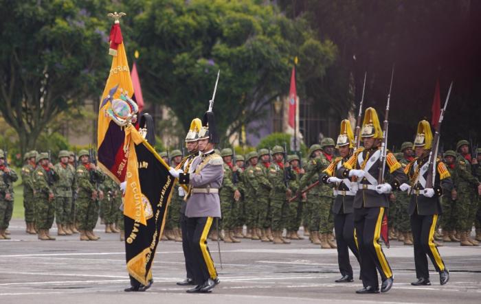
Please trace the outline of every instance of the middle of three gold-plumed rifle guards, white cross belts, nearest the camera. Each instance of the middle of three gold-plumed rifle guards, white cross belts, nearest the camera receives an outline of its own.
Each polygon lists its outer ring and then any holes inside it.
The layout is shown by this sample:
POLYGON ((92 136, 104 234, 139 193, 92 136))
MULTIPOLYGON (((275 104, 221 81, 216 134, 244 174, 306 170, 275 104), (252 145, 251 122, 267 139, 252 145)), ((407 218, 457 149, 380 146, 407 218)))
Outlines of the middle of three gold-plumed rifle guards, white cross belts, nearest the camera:
POLYGON ((381 141, 383 131, 376 110, 367 108, 361 128, 364 149, 353 156, 337 170, 337 178, 357 178, 358 191, 354 198, 354 227, 359 244, 363 289, 358 294, 379 293, 376 269, 381 274, 381 292, 392 287, 392 270, 388 264, 379 237, 386 208, 389 208, 389 194, 392 189, 407 181, 407 176, 390 152, 386 154, 385 174, 392 177, 392 183, 378 185, 377 178, 383 166, 381 161, 381 141))

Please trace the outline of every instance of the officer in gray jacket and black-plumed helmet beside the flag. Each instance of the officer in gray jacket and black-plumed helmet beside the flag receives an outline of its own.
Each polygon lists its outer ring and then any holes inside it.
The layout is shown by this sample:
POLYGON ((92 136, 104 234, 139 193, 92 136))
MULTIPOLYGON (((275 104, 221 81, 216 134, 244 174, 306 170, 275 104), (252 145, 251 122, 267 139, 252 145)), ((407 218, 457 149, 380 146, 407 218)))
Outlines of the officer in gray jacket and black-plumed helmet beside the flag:
POLYGON ((184 173, 182 169, 170 169, 170 174, 179 178, 181 185, 188 185, 187 239, 196 284, 194 288, 187 290, 189 293, 211 292, 220 282, 207 246, 212 222, 214 218, 221 217, 219 188, 224 174, 222 157, 214 152, 214 144, 219 143, 214 126, 214 113, 205 113, 198 141, 201 154, 192 161, 188 173, 184 173))

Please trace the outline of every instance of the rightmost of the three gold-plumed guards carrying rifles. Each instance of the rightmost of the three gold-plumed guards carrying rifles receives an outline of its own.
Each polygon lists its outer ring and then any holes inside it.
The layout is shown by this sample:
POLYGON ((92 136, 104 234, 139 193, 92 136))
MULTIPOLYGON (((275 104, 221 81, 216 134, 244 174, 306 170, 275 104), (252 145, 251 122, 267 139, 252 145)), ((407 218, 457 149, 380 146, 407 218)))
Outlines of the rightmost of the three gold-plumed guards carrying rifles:
POLYGON ((435 176, 432 176, 432 185, 429 185, 430 162, 434 156, 432 147, 433 136, 429 122, 422 120, 418 124, 418 132, 414 141, 416 159, 411 161, 404 169, 409 176, 409 184, 401 185, 402 191, 407 191, 411 196, 409 214, 411 216, 411 231, 414 240, 414 265, 418 281, 411 285, 431 285, 429 270, 427 269, 427 256, 439 273, 440 283, 444 285, 449 281, 449 272, 443 259, 434 244, 434 231, 441 211, 440 196, 451 192, 453 187, 449 172, 443 162, 435 159, 432 163, 435 176))

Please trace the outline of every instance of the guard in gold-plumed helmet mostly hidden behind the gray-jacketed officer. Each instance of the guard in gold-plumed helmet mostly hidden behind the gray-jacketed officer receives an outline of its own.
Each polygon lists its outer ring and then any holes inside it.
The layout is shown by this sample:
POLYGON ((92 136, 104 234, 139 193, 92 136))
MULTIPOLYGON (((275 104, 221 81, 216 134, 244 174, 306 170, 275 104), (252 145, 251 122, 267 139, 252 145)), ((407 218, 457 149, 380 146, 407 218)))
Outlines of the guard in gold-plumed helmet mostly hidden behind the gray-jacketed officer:
MULTIPOLYGON (((195 157, 199 154, 199 145, 197 141, 199 141, 199 130, 202 128, 202 121, 199 118, 192 119, 190 123, 189 132, 186 135, 186 148, 187 152, 189 153, 188 156, 184 157, 177 165, 176 169, 181 169, 184 174, 188 174, 190 170, 190 165, 192 165, 192 161, 194 161, 195 157)), ((178 193, 179 198, 181 198, 181 206, 180 206, 180 226, 181 226, 181 237, 182 237, 182 250, 183 250, 183 257, 186 261, 186 273, 187 277, 185 280, 181 282, 177 282, 177 285, 196 285, 194 283, 194 259, 192 258, 192 253, 190 252, 190 244, 189 239, 187 237, 187 217, 186 217, 186 207, 187 207, 187 200, 186 200, 186 185, 179 185, 178 193)))

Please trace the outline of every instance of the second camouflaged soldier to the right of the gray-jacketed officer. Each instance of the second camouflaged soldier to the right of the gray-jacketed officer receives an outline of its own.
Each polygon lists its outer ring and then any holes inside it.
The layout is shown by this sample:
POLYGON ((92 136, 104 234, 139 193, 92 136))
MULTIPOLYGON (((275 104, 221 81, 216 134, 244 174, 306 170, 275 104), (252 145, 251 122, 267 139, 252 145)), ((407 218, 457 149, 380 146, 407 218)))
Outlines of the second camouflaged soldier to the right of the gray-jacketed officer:
POLYGON ((236 239, 243 239, 245 235, 243 234, 243 226, 245 224, 245 184, 244 184, 244 162, 245 158, 243 155, 236 155, 236 165, 233 169, 232 182, 236 185, 238 191, 240 192, 240 198, 237 201, 236 209, 236 219, 234 227, 234 237, 236 239))

